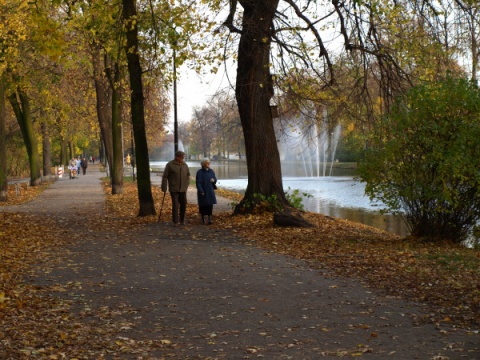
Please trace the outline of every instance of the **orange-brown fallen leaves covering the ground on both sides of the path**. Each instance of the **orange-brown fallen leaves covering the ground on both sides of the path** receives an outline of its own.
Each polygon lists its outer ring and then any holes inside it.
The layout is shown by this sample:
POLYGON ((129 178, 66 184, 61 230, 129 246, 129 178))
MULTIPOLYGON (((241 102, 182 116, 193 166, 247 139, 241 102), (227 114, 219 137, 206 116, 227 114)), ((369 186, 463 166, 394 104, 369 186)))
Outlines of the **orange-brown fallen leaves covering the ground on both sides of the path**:
MULTIPOLYGON (((154 223, 157 216, 136 217, 137 189, 124 184, 122 195, 107 194, 106 213, 91 214, 84 221, 89 231, 110 227, 121 233, 154 223)), ((30 201, 43 187, 26 187, 20 194, 10 189, 6 204, 30 201)), ((154 187, 156 204, 161 191, 154 187)), ((217 194, 239 201, 241 196, 219 189, 217 194)), ((162 218, 170 215, 170 197, 165 197, 162 218)), ((191 226, 203 226, 195 204, 188 204, 191 226)), ((480 326, 480 251, 448 243, 430 244, 377 230, 346 220, 305 213, 314 228, 286 228, 273 224, 272 214, 232 216, 216 213, 211 228, 229 230, 246 244, 304 259, 312 267, 330 274, 360 279, 388 296, 420 301, 430 309, 419 323, 432 322, 448 331, 466 331, 478 336, 480 326)), ((0 358, 2 359, 92 359, 115 358, 122 353, 147 353, 151 348, 169 347, 167 340, 133 341, 112 334, 122 324, 121 316, 98 324, 89 309, 73 315, 72 304, 53 296, 81 284, 65 288, 32 286, 29 278, 39 271, 49 272, 56 253, 81 234, 69 224, 55 223, 24 213, 0 212, 0 358)), ((112 309, 121 314, 121 309, 112 309)))

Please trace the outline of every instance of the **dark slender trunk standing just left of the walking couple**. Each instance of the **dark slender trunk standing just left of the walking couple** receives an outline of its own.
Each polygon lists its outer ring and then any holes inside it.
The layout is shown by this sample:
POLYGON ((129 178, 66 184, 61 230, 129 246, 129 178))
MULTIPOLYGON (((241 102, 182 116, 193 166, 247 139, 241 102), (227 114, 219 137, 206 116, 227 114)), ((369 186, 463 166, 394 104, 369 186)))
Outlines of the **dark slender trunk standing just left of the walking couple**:
POLYGON ((145 109, 142 84, 142 67, 138 55, 137 9, 135 0, 123 0, 125 21, 128 73, 130 75, 130 100, 133 138, 135 141, 135 165, 137 166, 137 189, 140 202, 139 216, 155 215, 152 185, 150 182, 150 161, 148 158, 147 136, 145 133, 145 109))

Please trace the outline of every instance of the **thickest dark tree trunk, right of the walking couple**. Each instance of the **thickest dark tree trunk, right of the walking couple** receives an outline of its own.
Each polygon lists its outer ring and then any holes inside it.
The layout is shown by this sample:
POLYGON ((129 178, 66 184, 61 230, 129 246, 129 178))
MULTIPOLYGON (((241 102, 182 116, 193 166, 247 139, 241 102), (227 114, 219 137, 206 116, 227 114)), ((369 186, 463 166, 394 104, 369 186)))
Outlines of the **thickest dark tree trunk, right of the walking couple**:
POLYGON ((279 0, 239 2, 244 11, 235 94, 245 138, 248 185, 236 212, 245 209, 247 203, 255 203, 255 194, 274 195, 283 205, 288 205, 270 112, 273 96, 270 43, 273 16, 279 0))

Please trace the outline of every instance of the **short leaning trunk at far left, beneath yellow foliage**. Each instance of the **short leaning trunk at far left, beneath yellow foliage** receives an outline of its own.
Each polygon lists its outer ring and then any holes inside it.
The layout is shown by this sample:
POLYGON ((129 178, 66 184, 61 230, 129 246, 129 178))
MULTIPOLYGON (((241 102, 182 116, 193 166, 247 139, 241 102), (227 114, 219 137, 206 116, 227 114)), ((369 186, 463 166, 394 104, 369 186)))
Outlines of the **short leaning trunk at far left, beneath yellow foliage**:
POLYGON ((20 130, 22 131, 25 147, 27 148, 28 161, 30 164, 30 185, 39 185, 42 181, 40 175, 40 158, 28 96, 21 89, 18 89, 17 92, 9 96, 9 101, 17 118, 20 130))

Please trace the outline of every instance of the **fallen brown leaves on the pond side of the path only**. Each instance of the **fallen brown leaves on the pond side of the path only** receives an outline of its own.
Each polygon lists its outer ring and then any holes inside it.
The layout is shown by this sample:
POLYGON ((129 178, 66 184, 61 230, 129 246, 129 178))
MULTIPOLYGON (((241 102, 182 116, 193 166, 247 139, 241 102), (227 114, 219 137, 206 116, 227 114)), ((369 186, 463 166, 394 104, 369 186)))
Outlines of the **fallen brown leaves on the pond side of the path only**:
MULTIPOLYGON (((160 199, 160 192, 155 190, 156 198, 160 199)), ((222 189, 217 195, 232 202, 242 198, 222 189)), ((137 209, 131 204, 136 201, 132 184, 126 186, 124 195, 108 196, 110 209, 126 218, 134 218, 137 209)), ((164 209, 170 206, 170 197, 166 196, 164 209)), ((189 204, 187 212, 190 219, 198 219, 195 204, 189 204)), ((215 213, 214 209, 214 215, 213 226, 229 229, 256 246, 359 278, 391 295, 431 304, 431 318, 419 321, 455 323, 467 328, 480 326, 479 250, 448 243, 418 243, 360 223, 315 213, 305 213, 305 218, 315 224, 311 229, 275 226, 269 213, 232 216, 215 213)), ((157 219, 132 221, 148 223, 157 219)))

